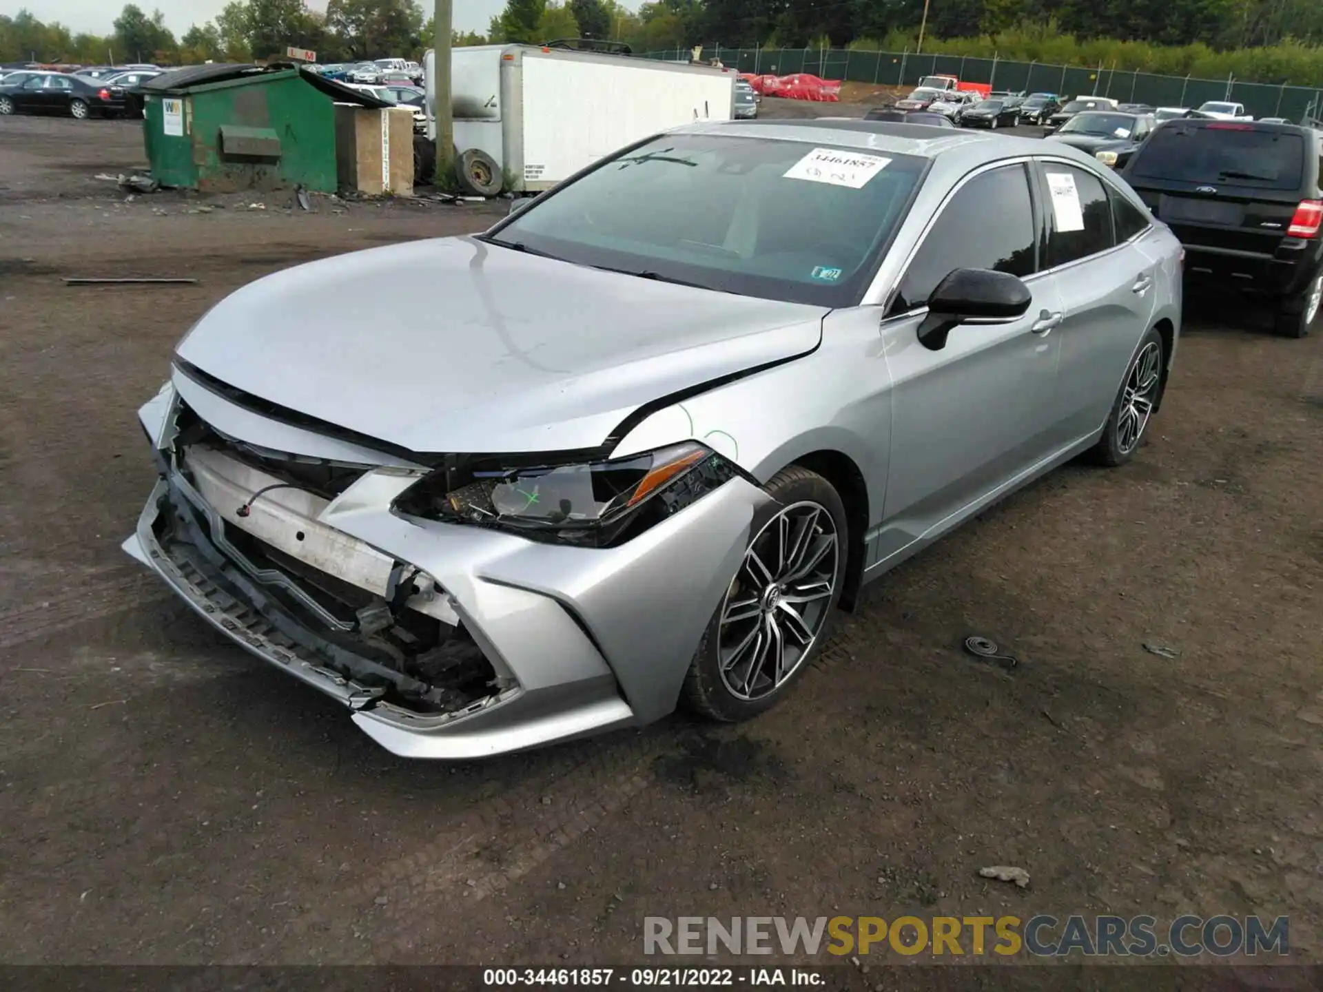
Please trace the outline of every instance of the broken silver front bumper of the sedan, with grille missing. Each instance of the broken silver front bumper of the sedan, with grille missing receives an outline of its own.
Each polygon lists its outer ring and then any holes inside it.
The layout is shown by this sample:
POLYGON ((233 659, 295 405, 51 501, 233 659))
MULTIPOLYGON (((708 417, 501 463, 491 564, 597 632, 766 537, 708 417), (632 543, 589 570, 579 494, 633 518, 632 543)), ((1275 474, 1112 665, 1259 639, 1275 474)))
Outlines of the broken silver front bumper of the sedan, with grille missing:
MULTIPOLYGON (((393 466, 363 466, 325 497, 280 483, 254 500, 261 471, 180 443, 180 409, 169 386, 140 411, 160 477, 124 550, 405 757, 488 757, 669 713, 766 499, 734 479, 619 548, 534 544, 392 513, 417 479, 393 466), (409 598, 393 585, 401 571, 426 579, 409 598), (389 635, 402 641, 374 632, 386 602, 409 615, 389 635), (427 638, 437 645, 401 655, 427 638)), ((210 403, 209 415, 229 413, 210 403)), ((298 447, 298 431, 265 431, 251 414, 209 423, 298 447)))

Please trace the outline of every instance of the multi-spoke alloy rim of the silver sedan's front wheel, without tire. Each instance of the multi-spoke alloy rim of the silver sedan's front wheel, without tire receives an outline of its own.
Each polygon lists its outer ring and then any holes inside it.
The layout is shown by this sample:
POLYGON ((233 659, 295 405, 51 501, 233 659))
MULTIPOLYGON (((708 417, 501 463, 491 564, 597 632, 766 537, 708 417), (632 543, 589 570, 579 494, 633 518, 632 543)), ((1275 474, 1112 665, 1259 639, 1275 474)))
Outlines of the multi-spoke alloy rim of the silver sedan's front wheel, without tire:
POLYGON ((831 513, 795 503, 763 525, 721 604, 721 680, 740 700, 779 689, 808 656, 833 602, 840 540, 831 513))

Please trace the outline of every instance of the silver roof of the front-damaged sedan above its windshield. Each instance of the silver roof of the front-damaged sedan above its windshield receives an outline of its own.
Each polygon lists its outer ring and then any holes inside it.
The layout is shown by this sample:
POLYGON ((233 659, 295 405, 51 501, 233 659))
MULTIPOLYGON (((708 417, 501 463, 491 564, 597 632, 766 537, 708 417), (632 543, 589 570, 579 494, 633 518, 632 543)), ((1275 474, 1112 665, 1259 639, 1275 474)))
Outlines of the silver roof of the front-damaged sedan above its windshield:
POLYGON ((963 175, 971 168, 998 159, 1028 155, 1053 155, 1077 159, 1090 168, 1097 160, 1070 145, 1054 143, 1048 148, 1039 138, 1007 134, 962 131, 931 124, 902 124, 892 120, 724 120, 683 124, 672 134, 708 134, 732 138, 759 138, 770 142, 803 142, 831 144, 869 153, 914 155, 941 161, 943 168, 963 175))

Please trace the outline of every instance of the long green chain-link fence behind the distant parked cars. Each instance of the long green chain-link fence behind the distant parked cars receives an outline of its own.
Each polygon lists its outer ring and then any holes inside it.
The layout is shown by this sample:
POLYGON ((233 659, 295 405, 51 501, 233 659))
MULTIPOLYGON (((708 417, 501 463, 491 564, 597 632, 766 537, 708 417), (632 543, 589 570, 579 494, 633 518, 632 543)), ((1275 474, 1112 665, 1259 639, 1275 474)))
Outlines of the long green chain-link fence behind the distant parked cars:
MULTIPOLYGON (((648 52, 648 58, 684 62, 689 49, 648 52)), ((1197 79, 1154 75, 1095 66, 1012 62, 966 56, 917 56, 913 52, 856 52, 852 49, 705 48, 703 60, 718 58, 741 73, 792 75, 811 73, 823 79, 916 86, 925 75, 947 74, 966 82, 988 83, 1012 93, 1053 93, 1062 97, 1111 97, 1122 103, 1152 107, 1197 107, 1205 101, 1234 101, 1256 118, 1278 116, 1307 122, 1323 116, 1323 87, 1273 86, 1238 79, 1197 79)))

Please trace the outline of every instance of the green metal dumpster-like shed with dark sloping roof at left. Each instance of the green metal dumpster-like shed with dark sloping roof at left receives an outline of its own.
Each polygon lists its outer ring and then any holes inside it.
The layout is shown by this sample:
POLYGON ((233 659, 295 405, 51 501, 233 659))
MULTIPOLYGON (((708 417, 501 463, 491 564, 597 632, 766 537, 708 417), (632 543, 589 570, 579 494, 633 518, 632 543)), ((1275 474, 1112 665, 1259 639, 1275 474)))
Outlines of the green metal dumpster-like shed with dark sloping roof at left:
POLYGON ((163 186, 333 193, 335 107, 298 69, 197 66, 143 87, 143 134, 163 186))

